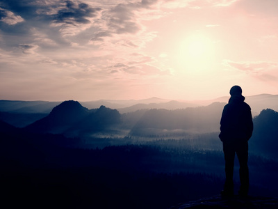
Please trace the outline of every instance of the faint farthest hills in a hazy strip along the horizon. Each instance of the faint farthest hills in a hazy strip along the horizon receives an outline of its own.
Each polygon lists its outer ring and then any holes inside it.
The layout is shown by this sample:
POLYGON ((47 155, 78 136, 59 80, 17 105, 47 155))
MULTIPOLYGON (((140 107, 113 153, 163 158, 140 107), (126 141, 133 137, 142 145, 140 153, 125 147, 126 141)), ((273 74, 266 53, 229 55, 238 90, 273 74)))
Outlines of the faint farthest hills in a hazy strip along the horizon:
MULTIPOLYGON (((101 105, 111 109, 117 109, 120 113, 136 111, 138 109, 185 109, 187 107, 207 106, 213 102, 227 103, 229 97, 221 97, 213 100, 166 100, 161 98, 149 98, 145 100, 96 100, 80 102, 83 107, 97 109, 101 105)), ((278 111, 278 95, 261 94, 246 96, 245 102, 250 104, 253 116, 258 115, 263 109, 278 111)), ((13 101, 0 100, 0 111, 14 113, 50 113, 51 109, 61 102, 47 101, 13 101)))

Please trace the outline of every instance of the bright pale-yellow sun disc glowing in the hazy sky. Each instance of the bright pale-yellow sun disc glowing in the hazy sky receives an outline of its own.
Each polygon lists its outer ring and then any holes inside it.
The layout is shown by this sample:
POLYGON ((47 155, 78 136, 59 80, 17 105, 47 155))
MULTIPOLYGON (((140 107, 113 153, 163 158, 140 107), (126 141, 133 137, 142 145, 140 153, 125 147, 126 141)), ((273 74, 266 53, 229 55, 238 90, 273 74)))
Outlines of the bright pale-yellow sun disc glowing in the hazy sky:
POLYGON ((208 70, 214 54, 212 40, 202 35, 190 36, 179 42, 177 62, 183 70, 208 70))

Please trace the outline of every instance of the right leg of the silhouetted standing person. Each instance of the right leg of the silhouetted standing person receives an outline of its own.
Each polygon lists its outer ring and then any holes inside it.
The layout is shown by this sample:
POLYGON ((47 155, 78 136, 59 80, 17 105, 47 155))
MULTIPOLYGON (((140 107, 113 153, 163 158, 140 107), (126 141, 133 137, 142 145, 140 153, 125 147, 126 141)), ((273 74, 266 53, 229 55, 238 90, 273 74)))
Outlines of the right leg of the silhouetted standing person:
POLYGON ((247 196, 249 190, 249 169, 247 165, 248 161, 248 142, 240 144, 236 150, 238 155, 238 161, 240 164, 239 176, 240 176, 240 190, 239 194, 247 196))

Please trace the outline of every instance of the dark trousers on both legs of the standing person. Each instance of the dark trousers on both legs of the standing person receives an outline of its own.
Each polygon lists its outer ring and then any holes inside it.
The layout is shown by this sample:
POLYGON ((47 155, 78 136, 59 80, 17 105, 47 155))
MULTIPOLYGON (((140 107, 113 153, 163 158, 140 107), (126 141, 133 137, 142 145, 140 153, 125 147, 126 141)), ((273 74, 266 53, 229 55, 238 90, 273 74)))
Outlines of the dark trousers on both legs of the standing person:
POLYGON ((223 143, 224 159, 225 159, 225 173, 226 181, 224 184, 224 190, 234 192, 234 158, 235 154, 238 156, 238 162, 240 165, 240 192, 247 194, 249 189, 249 169, 247 165, 248 161, 248 142, 238 143, 223 143))

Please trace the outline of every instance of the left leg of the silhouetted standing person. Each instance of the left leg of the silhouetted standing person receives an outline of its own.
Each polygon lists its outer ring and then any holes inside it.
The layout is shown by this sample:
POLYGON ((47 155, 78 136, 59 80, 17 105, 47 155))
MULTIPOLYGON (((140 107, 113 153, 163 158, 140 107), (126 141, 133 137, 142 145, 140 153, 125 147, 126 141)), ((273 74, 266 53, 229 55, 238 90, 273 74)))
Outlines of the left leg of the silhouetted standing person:
POLYGON ((224 184, 224 194, 232 195, 234 194, 234 183, 233 183, 234 157, 235 157, 234 146, 231 144, 223 143, 223 152, 224 152, 224 159, 225 159, 225 174, 226 174, 226 180, 224 184))

